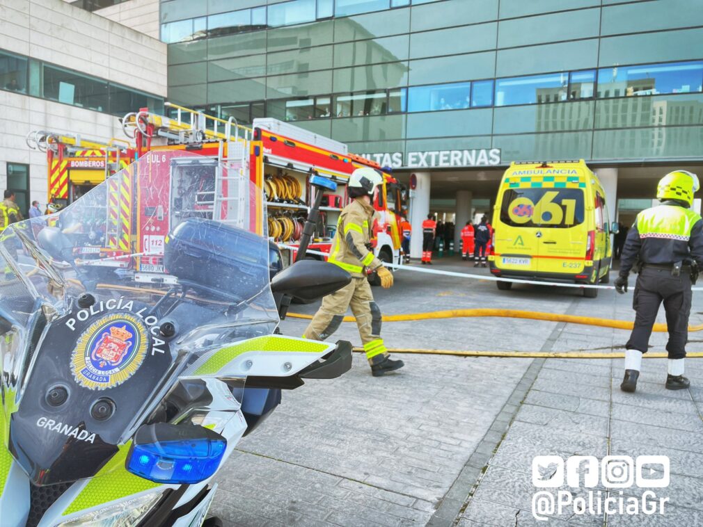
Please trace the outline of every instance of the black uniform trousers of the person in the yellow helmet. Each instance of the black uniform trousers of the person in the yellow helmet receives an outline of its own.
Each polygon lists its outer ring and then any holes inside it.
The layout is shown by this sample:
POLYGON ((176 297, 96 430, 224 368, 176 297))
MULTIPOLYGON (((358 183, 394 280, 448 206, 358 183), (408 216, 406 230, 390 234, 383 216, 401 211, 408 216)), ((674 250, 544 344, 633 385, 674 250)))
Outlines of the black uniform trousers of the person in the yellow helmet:
POLYGON ((681 271, 681 275, 672 276, 669 269, 645 265, 635 285, 632 300, 632 307, 636 311, 635 327, 625 345, 626 349, 636 349, 643 353, 647 351, 652 326, 663 301, 666 328, 669 331, 666 351, 669 352, 669 358, 684 358, 691 297, 691 277, 688 272, 681 271))

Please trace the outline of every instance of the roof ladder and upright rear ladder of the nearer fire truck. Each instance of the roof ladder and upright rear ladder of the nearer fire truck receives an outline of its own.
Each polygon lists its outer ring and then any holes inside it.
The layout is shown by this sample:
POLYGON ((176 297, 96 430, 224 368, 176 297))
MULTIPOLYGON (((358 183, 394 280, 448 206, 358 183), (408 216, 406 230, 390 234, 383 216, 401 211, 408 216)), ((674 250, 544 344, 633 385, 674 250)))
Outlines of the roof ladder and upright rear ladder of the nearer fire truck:
POLYGON ((214 188, 197 191, 194 204, 198 209, 192 212, 209 212, 213 219, 243 226, 243 214, 249 204, 245 185, 248 184, 247 145, 252 130, 240 126, 234 117, 225 120, 174 103, 165 106, 175 110, 174 117, 148 110, 125 115, 124 133, 134 138, 138 131, 147 138, 161 137, 176 144, 219 143, 214 188))

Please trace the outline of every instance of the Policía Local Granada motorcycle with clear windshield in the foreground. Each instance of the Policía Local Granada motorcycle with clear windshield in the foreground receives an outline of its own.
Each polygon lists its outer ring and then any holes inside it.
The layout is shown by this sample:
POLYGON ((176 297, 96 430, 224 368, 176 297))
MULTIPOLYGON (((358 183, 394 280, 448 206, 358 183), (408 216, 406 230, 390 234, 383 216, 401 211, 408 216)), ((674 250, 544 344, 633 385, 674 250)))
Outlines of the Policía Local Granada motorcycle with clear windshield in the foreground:
POLYGON ((164 214, 148 210, 148 199, 168 200, 174 167, 182 175, 193 159, 143 157, 0 236, 1 527, 220 525, 207 518, 214 477, 240 438, 282 390, 351 367, 348 342, 277 332, 274 294, 314 299, 351 278, 308 260, 277 272, 263 193, 250 181, 217 167, 209 218, 174 200, 164 214), (120 181, 131 200, 111 194, 108 183, 120 181), (162 261, 164 272, 116 267, 97 282, 75 235, 96 211, 108 238, 121 218, 133 245, 136 235, 163 236, 162 249, 150 241, 131 259, 162 261), (166 234, 157 220, 167 216, 166 234))

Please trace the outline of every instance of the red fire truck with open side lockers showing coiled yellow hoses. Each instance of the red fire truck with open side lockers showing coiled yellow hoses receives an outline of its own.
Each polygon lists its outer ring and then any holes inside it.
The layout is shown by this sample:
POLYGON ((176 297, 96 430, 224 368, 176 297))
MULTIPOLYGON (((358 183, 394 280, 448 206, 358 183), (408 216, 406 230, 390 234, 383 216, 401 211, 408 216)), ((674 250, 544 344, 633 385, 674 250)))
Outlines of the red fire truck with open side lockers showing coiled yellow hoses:
MULTIPOLYGON (((125 133, 136 141, 137 155, 184 150, 214 161, 202 167, 197 181, 192 178, 181 181, 177 168, 174 169, 170 197, 141 197, 140 216, 152 220, 156 216, 164 223, 151 221, 150 228, 156 227, 156 230, 135 237, 137 253, 158 250, 163 237, 174 226, 169 223, 174 218, 168 211, 170 204, 180 199, 179 195, 194 197, 187 207, 190 211, 226 218, 228 203, 236 199, 228 188, 229 180, 235 176, 249 178, 264 190, 269 237, 292 247, 295 252, 313 202, 314 189, 309 184, 309 176, 313 174, 337 183, 335 193, 323 196, 321 221, 309 246, 309 249, 329 253, 337 219, 342 207, 349 202, 346 186, 349 175, 358 167, 381 171, 375 162, 350 154, 343 143, 276 119, 254 119, 249 129, 238 126, 234 119, 226 121, 169 103, 167 106, 172 108, 173 117, 155 115, 144 108, 122 119, 125 133), (224 167, 228 176, 222 177, 218 166, 224 167)), ((179 162, 186 163, 186 159, 179 162)), ((202 158, 194 162, 202 163, 202 158)), ((380 216, 373 227, 374 250, 382 261, 401 263, 400 222, 407 214, 405 188, 387 171, 382 173, 385 184, 373 204, 380 216)), ((182 202, 177 204, 183 209, 182 202)), ((142 259, 138 271, 142 275, 162 273, 162 263, 157 263, 158 260, 157 257, 142 259)), ((375 277, 370 279, 375 281, 375 277)))

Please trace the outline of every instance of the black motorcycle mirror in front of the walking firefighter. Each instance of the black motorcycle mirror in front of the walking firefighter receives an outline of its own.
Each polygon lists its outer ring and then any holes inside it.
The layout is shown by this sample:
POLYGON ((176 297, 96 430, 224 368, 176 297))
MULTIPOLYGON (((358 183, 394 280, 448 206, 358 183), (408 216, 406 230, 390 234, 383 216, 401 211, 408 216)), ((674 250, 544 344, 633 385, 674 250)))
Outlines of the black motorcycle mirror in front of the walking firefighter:
POLYGON ((300 260, 273 277, 271 291, 313 301, 342 289, 349 282, 352 275, 333 263, 300 260))

